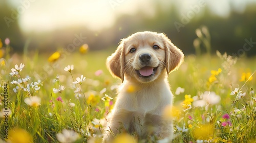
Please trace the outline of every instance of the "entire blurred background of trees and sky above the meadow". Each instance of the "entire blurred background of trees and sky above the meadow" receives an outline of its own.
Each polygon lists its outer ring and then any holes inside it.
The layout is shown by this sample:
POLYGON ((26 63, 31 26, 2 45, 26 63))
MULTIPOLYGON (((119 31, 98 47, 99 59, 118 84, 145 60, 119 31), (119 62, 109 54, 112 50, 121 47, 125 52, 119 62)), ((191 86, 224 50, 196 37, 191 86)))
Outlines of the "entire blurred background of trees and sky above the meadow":
POLYGON ((10 39, 12 53, 24 47, 32 53, 73 52, 84 43, 91 51, 113 51, 122 38, 155 31, 195 54, 195 31, 206 26, 211 53, 256 54, 255 0, 1 0, 0 17, 0 38, 10 39))

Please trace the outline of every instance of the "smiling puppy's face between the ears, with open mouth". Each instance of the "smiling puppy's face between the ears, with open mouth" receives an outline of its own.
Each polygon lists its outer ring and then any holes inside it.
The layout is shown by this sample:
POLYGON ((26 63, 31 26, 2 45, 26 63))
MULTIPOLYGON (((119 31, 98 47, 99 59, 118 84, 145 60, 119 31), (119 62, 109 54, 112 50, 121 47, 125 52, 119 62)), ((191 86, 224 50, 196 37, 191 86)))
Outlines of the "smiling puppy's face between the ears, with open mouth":
POLYGON ((156 34, 139 33, 125 40, 124 74, 139 82, 154 81, 165 68, 165 47, 156 34))

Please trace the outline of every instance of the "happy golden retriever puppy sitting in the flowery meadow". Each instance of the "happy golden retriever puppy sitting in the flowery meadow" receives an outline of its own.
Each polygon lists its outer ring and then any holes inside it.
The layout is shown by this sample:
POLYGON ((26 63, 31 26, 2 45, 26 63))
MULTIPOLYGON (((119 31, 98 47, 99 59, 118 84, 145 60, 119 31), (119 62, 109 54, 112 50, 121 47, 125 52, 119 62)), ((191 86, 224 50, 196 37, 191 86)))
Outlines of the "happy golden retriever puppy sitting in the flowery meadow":
POLYGON ((164 108, 173 102, 167 76, 183 59, 181 50, 163 33, 138 32, 121 40, 106 61, 123 83, 107 117, 103 142, 111 142, 122 131, 138 139, 172 139, 172 120, 163 117, 164 108))

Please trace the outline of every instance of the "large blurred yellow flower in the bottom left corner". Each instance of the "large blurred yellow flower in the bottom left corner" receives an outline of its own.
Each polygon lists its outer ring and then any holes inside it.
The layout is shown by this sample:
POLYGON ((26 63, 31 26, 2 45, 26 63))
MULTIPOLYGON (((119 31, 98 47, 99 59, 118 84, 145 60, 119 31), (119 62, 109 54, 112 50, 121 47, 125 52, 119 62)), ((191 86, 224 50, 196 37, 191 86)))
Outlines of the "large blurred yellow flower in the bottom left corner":
POLYGON ((33 138, 26 130, 16 128, 10 131, 7 142, 30 143, 33 138))

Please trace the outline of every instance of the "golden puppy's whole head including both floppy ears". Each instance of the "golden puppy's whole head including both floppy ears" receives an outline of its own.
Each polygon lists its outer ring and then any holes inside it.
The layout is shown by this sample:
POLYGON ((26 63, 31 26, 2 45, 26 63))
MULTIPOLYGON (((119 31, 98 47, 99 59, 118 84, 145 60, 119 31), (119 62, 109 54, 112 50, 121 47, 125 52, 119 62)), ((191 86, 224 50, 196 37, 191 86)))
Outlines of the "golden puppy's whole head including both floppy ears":
POLYGON ((163 70, 177 69, 184 55, 163 33, 138 32, 122 39, 117 50, 106 61, 113 76, 124 76, 141 83, 156 80, 163 70))

